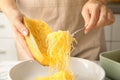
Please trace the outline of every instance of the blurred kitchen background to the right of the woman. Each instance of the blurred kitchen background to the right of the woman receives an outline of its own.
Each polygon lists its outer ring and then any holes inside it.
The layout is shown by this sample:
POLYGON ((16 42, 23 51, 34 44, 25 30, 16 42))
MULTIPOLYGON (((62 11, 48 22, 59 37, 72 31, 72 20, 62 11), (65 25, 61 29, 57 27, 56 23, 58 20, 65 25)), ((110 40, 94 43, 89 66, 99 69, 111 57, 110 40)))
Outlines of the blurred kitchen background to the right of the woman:
POLYGON ((107 50, 120 49, 120 0, 108 0, 108 7, 115 15, 115 23, 105 27, 107 50))

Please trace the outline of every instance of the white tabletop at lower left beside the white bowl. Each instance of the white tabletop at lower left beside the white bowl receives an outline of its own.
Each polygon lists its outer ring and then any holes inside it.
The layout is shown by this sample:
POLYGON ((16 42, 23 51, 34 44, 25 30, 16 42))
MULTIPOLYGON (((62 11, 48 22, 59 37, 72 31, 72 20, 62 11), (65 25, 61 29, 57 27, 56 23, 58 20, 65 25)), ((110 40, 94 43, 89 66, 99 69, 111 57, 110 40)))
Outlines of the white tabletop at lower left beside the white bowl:
MULTIPOLYGON (((10 80, 8 78, 9 76, 9 70, 16 64, 20 63, 20 61, 3 61, 0 62, 0 80, 10 80)), ((96 62, 98 63, 98 62, 96 62)), ((108 78, 105 78, 105 80, 111 80, 108 78)))

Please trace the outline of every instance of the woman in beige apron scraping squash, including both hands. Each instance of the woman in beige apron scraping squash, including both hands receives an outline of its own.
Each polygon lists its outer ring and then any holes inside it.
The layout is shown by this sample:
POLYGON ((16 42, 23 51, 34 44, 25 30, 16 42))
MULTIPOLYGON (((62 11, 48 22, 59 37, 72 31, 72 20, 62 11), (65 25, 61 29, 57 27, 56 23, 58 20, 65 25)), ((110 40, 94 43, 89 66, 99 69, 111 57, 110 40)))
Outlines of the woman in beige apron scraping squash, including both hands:
POLYGON ((90 60, 97 59, 99 53, 105 51, 102 27, 114 22, 106 0, 0 0, 0 8, 12 24, 21 60, 33 59, 24 39, 29 31, 23 24, 23 15, 44 20, 54 31, 61 29, 73 33, 85 27, 75 35, 78 44, 71 56, 90 60))

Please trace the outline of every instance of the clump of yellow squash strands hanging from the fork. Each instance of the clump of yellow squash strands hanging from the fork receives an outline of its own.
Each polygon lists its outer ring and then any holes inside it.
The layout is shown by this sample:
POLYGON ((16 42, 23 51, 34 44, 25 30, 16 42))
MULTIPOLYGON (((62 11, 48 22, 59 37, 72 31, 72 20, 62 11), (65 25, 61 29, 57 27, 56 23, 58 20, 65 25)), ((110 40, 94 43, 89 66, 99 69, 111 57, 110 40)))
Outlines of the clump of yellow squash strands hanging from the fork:
POLYGON ((57 31, 48 34, 48 54, 50 67, 64 70, 69 65, 70 50, 73 38, 69 31, 57 31))

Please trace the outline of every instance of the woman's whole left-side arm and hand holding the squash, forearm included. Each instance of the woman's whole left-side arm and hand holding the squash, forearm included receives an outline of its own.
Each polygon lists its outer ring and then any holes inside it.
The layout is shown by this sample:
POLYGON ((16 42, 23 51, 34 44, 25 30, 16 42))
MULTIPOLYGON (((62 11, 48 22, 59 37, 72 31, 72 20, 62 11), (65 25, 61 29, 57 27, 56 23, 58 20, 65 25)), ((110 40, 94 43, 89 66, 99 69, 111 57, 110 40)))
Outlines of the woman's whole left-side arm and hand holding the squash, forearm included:
POLYGON ((23 14, 18 10, 16 0, 0 0, 0 9, 12 24, 19 59, 33 59, 25 41, 29 32, 23 24, 23 14))

